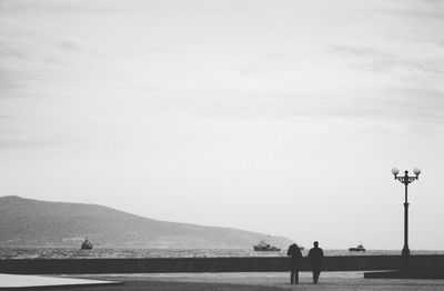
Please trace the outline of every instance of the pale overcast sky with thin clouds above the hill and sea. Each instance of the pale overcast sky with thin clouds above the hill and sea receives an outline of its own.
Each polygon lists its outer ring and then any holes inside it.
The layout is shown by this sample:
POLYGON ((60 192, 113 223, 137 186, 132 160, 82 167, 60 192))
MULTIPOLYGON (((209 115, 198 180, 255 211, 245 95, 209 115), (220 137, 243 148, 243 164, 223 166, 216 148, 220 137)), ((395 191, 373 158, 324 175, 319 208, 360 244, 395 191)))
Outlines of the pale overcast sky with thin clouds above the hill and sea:
MULTIPOLYGON (((444 249, 444 2, 0 0, 0 195, 444 249)), ((0 214, 1 215, 1 214, 0 214)))

